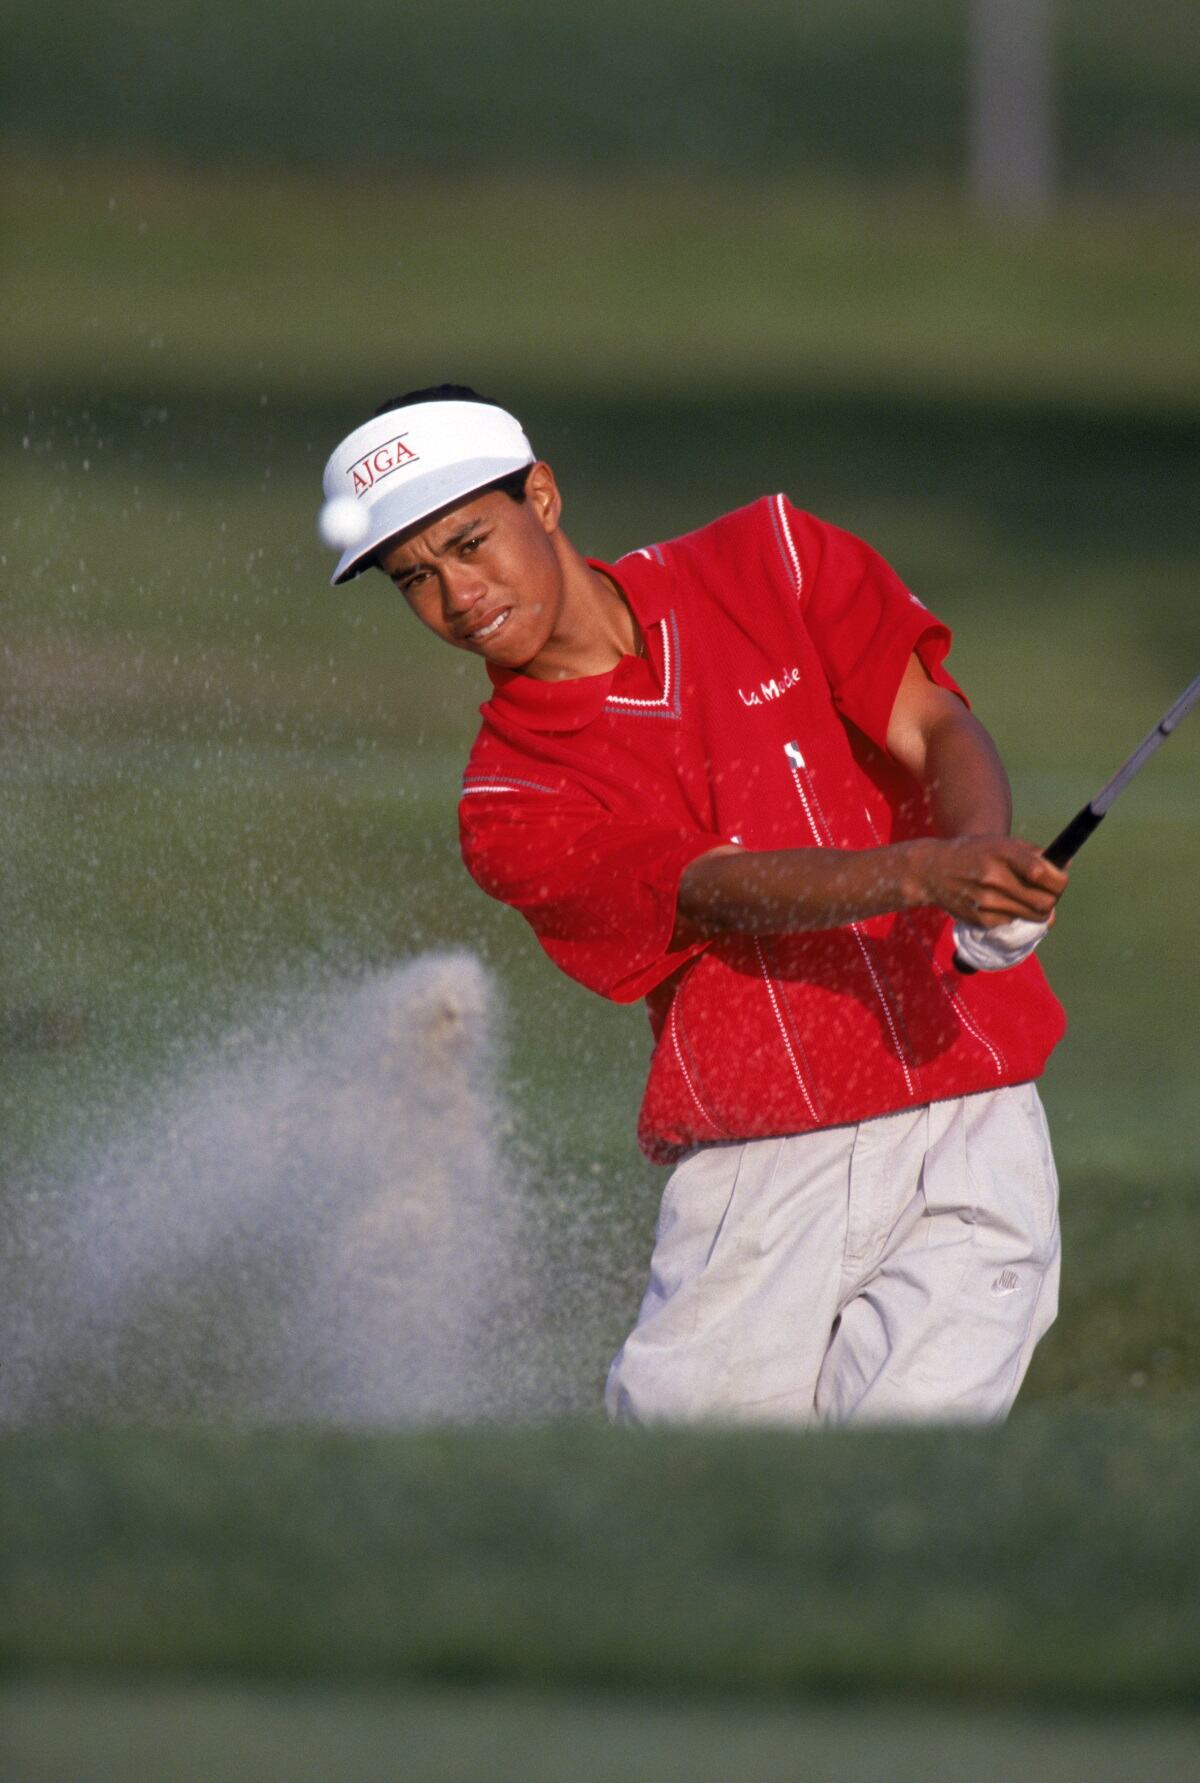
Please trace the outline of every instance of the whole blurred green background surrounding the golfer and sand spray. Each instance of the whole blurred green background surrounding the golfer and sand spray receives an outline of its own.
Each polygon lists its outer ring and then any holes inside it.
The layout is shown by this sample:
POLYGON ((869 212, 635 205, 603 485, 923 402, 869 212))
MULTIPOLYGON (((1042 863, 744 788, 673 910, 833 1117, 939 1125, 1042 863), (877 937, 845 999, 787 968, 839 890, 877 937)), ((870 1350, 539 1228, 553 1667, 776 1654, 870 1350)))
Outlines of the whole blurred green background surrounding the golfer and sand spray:
MULTIPOLYGON (((526 421, 603 556, 786 489, 954 626, 1018 827, 1048 836, 1200 656, 1191 11, 1059 0, 1056 191, 1029 226, 970 203, 958 0, 11 18, 4 1193, 77 1170, 289 988, 469 945, 506 991, 533 1193, 603 1186, 558 1401, 592 1412, 662 1186, 633 1146, 645 1020, 465 879, 483 688, 382 578, 328 590, 325 456, 446 378, 526 421)), ((1045 949, 1072 1020, 1045 1082, 1066 1277, 1022 1405, 1116 1409, 1113 1455, 1150 1400, 1195 1455, 1198 765, 1193 720, 1045 949)), ((61 1441, 41 1466, 77 1464, 61 1441)), ((884 1462, 865 1491, 888 1489, 884 1462)), ((886 1567, 886 1535, 863 1542, 886 1567)))

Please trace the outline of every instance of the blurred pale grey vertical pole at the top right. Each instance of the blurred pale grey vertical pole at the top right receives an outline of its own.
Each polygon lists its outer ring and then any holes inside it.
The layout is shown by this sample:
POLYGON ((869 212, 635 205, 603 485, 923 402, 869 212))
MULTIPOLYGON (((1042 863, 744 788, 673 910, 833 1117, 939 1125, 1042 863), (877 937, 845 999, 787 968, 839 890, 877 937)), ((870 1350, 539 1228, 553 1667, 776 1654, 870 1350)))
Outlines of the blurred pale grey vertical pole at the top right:
POLYGON ((1036 221, 1054 201, 1052 0, 968 4, 972 203, 1036 221))

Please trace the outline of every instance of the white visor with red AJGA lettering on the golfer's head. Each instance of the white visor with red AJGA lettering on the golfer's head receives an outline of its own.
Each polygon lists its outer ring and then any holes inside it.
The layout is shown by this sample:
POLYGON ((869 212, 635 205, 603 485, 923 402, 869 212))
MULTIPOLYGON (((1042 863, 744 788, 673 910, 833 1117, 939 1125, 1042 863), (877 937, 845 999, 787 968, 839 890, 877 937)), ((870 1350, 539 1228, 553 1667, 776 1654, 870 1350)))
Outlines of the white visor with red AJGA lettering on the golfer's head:
POLYGON ((355 428, 325 467, 319 528, 341 551, 333 587, 387 538, 533 462, 521 423, 492 403, 412 403, 355 428))

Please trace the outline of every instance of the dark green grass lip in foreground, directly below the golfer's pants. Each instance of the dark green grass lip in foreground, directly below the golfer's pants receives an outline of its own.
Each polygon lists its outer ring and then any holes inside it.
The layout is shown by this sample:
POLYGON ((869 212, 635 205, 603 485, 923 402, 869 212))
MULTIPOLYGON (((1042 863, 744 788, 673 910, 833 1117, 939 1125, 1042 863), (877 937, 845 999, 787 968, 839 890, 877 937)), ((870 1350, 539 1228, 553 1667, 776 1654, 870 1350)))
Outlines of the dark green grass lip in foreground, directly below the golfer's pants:
POLYGON ((5 1435, 9 1678, 1195 1705, 1195 1398, 993 1432, 5 1435))

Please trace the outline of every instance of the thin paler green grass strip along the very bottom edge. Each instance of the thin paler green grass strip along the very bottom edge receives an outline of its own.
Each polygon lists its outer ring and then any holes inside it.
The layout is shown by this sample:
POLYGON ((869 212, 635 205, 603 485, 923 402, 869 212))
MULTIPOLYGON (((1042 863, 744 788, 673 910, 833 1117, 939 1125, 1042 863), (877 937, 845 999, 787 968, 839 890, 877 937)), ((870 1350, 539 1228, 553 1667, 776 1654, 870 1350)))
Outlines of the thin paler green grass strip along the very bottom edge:
POLYGON ((1191 1783, 1196 1717, 670 1701, 505 1689, 36 1685, 0 1692, 21 1783, 1191 1783))

